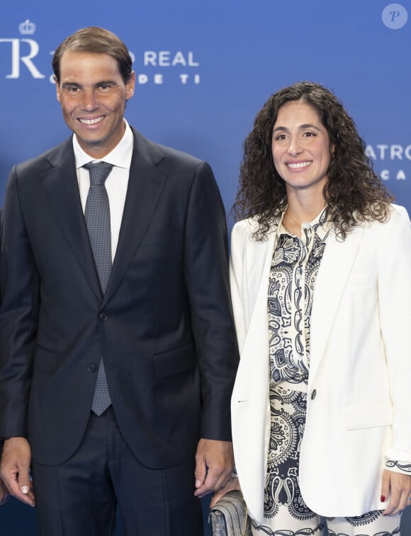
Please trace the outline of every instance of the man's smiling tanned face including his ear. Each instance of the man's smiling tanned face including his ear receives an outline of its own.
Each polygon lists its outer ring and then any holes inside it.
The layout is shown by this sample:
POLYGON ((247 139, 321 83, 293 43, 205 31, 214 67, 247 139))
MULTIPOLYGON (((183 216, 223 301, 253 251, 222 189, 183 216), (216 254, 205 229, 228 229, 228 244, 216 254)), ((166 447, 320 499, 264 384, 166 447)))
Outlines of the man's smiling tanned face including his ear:
POLYGON ((133 96, 135 74, 125 84, 113 57, 67 50, 56 86, 64 121, 81 148, 94 158, 107 155, 123 137, 125 102, 133 96))

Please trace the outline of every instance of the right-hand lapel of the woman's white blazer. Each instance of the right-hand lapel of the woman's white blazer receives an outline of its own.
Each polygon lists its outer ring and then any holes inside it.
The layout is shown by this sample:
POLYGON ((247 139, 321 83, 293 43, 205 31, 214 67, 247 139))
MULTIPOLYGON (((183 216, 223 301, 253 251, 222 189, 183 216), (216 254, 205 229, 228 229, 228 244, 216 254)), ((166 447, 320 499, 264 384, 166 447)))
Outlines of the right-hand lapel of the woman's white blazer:
POLYGON ((358 225, 342 242, 334 233, 330 234, 325 247, 320 269, 315 281, 313 311, 310 329, 310 375, 309 387, 325 354, 328 337, 333 326, 349 272, 361 242, 364 227, 358 225))

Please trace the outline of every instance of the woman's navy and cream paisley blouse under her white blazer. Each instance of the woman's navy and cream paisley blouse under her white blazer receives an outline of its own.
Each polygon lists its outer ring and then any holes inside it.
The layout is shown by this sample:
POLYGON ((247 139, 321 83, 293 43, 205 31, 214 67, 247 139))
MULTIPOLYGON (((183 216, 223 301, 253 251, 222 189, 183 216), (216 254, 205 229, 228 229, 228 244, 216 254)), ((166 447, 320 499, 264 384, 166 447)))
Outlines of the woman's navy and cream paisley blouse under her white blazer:
POLYGON ((280 223, 269 277, 271 381, 307 384, 310 367, 310 316, 315 279, 330 228, 325 210, 303 223, 301 238, 280 223))

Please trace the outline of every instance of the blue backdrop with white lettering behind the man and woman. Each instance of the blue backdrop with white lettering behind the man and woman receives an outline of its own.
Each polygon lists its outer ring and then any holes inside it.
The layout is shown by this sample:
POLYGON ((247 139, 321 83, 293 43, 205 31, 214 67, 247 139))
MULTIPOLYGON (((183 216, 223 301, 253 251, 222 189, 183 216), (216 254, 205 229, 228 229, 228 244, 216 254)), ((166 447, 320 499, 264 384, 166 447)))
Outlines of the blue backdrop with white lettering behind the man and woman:
MULTIPOLYGON (((310 79, 342 99, 411 212, 410 0, 19 0, 0 9, 0 204, 12 165, 69 135, 50 81, 53 50, 78 28, 103 26, 135 57, 128 121, 208 160, 227 211, 255 113, 282 86, 310 79)), ((9 501, 0 533, 35 535, 33 511, 9 501)), ((402 534, 411 535, 407 512, 402 534)))

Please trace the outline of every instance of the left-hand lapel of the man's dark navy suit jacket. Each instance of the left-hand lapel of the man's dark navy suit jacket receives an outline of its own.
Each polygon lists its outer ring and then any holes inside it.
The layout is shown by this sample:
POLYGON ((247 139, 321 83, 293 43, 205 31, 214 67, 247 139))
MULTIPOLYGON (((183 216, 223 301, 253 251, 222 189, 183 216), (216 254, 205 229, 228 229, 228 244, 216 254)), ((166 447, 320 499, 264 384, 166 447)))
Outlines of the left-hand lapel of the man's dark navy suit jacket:
POLYGON ((81 208, 72 138, 56 147, 48 155, 48 161, 51 167, 43 175, 43 184, 52 211, 62 228, 73 257, 77 259, 91 289, 101 299, 101 288, 81 208))

